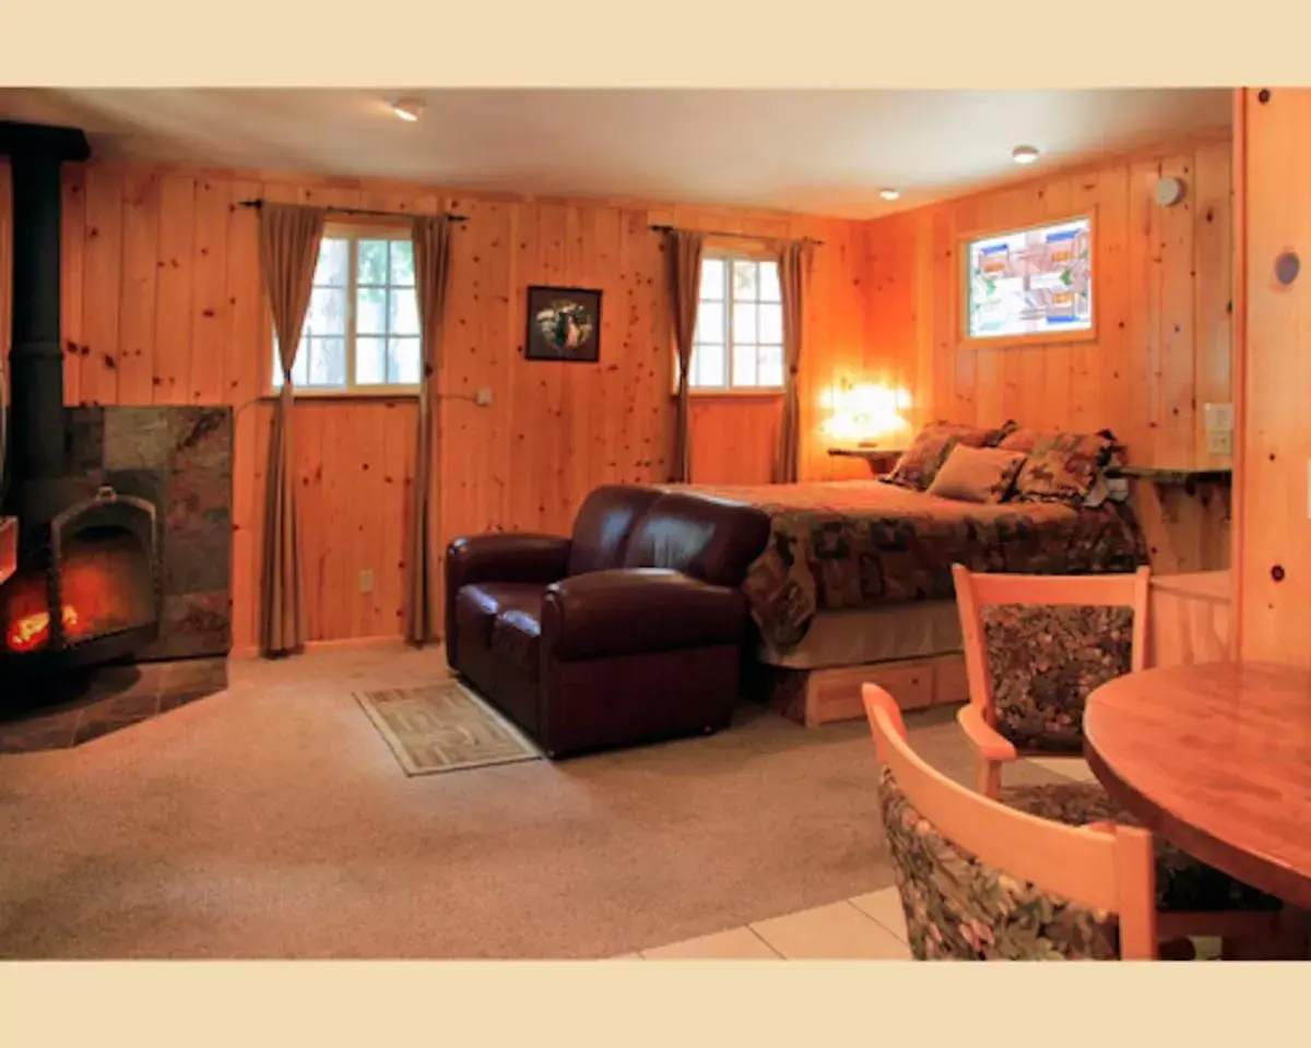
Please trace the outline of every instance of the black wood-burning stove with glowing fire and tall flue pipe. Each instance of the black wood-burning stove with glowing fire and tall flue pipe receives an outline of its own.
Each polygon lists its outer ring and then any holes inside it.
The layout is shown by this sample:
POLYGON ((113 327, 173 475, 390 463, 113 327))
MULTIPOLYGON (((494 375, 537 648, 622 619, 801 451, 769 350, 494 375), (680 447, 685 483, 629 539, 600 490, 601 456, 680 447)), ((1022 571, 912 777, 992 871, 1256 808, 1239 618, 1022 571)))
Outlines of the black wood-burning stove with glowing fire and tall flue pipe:
MULTIPOLYGON (((159 634, 156 507, 72 479, 59 331, 60 165, 81 131, 0 122, 13 191, 10 435, 0 508, 18 519, 18 570, 0 584, 0 681, 131 655, 159 634)), ((8 698, 0 689, 0 700, 8 698)))

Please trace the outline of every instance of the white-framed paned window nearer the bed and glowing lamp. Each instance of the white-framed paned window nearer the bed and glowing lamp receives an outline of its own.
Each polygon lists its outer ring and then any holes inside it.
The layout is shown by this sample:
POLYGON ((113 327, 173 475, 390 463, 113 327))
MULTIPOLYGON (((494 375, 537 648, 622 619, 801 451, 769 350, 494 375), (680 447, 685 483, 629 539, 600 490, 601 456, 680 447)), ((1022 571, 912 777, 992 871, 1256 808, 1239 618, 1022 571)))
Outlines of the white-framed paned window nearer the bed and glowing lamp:
POLYGON ((705 253, 690 388, 703 393, 783 389, 783 296, 777 262, 705 253))

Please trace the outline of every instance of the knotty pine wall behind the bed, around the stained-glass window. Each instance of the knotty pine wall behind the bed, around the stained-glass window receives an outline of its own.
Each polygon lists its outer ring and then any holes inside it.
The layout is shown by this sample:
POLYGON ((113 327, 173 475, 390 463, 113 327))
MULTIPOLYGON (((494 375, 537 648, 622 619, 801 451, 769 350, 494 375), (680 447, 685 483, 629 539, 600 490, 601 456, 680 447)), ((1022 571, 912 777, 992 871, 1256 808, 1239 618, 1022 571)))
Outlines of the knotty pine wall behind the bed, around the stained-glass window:
MULTIPOLYGON (((1228 465, 1207 455, 1202 406, 1231 398, 1231 152, 1228 135, 1205 138, 873 221, 867 343, 910 384, 916 423, 1109 427, 1133 462, 1228 465), (1186 185, 1175 207, 1154 200, 1162 176, 1186 185), (1089 210, 1097 341, 961 346, 960 240, 1089 210)), ((1156 570, 1227 566, 1223 489, 1134 483, 1134 498, 1156 570)))

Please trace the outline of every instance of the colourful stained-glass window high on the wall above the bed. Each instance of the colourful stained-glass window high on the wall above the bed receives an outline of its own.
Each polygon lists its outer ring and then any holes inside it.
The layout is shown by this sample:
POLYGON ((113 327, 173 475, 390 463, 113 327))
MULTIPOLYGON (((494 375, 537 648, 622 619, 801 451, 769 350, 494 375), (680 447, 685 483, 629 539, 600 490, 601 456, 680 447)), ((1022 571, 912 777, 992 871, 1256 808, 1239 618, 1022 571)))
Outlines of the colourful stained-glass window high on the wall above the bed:
POLYGON ((961 242, 961 335, 975 346, 1096 338, 1093 216, 961 242))

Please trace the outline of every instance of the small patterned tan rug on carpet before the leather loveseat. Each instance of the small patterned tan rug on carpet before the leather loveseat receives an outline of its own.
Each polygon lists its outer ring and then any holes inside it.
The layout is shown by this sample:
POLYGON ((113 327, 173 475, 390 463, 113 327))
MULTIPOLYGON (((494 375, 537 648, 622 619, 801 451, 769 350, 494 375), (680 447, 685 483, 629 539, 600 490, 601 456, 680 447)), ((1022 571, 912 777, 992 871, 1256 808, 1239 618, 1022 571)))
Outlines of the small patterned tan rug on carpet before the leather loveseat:
POLYGON ((459 681, 357 692, 406 776, 541 760, 527 739, 459 681))

